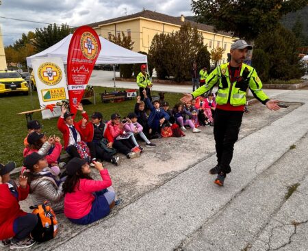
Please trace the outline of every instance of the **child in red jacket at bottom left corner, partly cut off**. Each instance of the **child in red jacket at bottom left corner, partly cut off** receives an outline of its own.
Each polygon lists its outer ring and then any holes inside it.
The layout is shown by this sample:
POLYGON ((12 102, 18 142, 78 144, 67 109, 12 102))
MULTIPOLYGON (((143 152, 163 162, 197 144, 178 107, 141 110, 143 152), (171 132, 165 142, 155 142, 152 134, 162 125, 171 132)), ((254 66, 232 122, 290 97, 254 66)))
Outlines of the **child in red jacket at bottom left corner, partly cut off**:
POLYGON ((14 162, 0 164, 0 246, 29 248, 36 243, 30 233, 38 217, 25 213, 19 206, 18 202, 25 200, 29 194, 29 185, 25 176, 19 176, 19 187, 10 179, 10 172, 15 167, 14 162))

